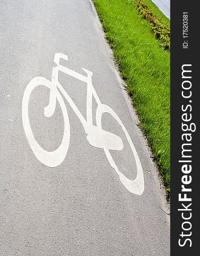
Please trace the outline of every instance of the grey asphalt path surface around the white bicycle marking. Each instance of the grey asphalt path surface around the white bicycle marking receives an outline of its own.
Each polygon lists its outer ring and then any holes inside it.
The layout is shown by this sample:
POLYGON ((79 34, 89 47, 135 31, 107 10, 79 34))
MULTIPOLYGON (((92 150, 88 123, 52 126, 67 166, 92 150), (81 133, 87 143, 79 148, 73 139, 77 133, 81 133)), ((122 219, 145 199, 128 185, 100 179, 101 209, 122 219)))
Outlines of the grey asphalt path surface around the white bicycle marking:
MULTIPOLYGON (((0 256, 169 256, 165 194, 91 1, 0 1, 0 67, 0 256), (131 194, 103 149, 88 143, 66 101, 71 137, 65 160, 50 168, 34 156, 23 129, 23 93, 34 77, 51 79, 56 52, 68 55, 63 65, 72 70, 93 72, 101 102, 126 126, 143 167, 142 195, 131 194)), ((85 84, 62 73, 59 78, 86 117, 85 84)), ((48 97, 46 87, 34 89, 29 119, 35 139, 52 151, 62 140, 63 116, 59 106, 44 116, 48 97)), ((102 122, 122 138, 124 149, 112 154, 134 178, 122 129, 109 114, 102 122)))

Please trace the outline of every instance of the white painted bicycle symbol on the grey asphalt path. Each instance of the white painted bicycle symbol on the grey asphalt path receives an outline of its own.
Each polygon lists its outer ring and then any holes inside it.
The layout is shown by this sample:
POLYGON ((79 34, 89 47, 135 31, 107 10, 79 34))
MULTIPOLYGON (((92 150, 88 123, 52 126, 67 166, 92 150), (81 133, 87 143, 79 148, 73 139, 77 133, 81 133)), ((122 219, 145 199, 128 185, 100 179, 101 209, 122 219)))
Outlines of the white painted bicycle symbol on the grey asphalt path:
POLYGON ((91 81, 92 72, 82 68, 87 74, 87 76, 83 76, 80 73, 77 73, 67 67, 60 65, 59 64, 60 58, 63 58, 66 61, 68 61, 67 55, 63 53, 55 54, 54 62, 57 64, 57 67, 54 67, 52 69, 51 81, 49 81, 44 77, 37 76, 29 82, 24 92, 23 102, 22 102, 23 127, 25 130, 25 134, 28 139, 29 145, 35 157, 37 157, 37 159, 41 163, 49 167, 56 167, 60 165, 60 163, 62 163, 66 157, 66 154, 69 148, 70 124, 69 124, 69 117, 68 117, 66 105, 60 94, 61 92, 63 96, 66 98, 66 100, 69 102, 69 105, 74 110, 78 118, 80 119, 80 122, 82 123, 85 129, 85 132, 87 134, 87 140, 89 141, 89 143, 94 147, 103 148, 111 167, 114 168, 115 172, 120 177, 120 181, 123 183, 126 189, 128 189, 131 193, 142 195, 144 191, 143 169, 140 163, 140 159, 137 155, 137 152, 134 148, 134 145, 131 141, 131 138, 126 128, 124 127, 123 123, 121 122, 117 114, 109 106, 104 105, 100 102, 100 99, 97 96, 97 93, 94 90, 94 87, 92 85, 92 81, 91 81), (79 79, 80 81, 83 81, 87 84, 87 103, 86 103, 87 120, 84 119, 83 115, 80 113, 77 106, 69 97, 68 93, 66 93, 66 91, 63 89, 61 84, 58 82, 59 71, 66 73, 70 76, 73 76, 74 78, 79 79), (29 97, 31 95, 32 90, 39 85, 46 86, 50 89, 49 105, 44 108, 44 115, 46 117, 50 117, 54 114, 54 111, 56 108, 56 101, 59 102, 60 108, 63 112, 63 118, 64 118, 63 140, 60 146, 54 151, 46 151, 37 143, 32 133, 30 122, 29 122, 29 113, 28 113, 29 97), (92 122, 92 95, 94 96, 94 99, 96 100, 98 105, 97 111, 96 111, 97 126, 93 125, 93 122, 92 122), (118 137, 117 135, 102 129, 101 118, 103 113, 109 113, 111 116, 113 116, 114 119, 119 123, 119 125, 123 129, 124 134, 126 135, 126 139, 131 147, 131 151, 133 153, 136 166, 137 166, 137 177, 134 180, 130 180, 125 175, 123 175, 123 173, 121 173, 118 170, 117 165, 115 164, 113 158, 111 157, 109 150, 119 150, 119 151, 122 150, 123 142, 121 138, 118 137))

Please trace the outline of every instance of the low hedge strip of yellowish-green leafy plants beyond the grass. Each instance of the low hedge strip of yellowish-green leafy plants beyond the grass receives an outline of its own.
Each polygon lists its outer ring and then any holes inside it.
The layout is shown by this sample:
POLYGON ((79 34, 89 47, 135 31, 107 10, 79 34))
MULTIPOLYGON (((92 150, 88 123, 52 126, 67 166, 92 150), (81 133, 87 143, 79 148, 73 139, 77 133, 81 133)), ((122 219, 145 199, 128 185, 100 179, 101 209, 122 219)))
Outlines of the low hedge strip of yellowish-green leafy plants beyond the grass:
POLYGON ((154 14, 154 12, 146 4, 145 0, 133 0, 133 4, 137 12, 151 24, 151 29, 162 44, 164 49, 170 50, 170 28, 154 14))

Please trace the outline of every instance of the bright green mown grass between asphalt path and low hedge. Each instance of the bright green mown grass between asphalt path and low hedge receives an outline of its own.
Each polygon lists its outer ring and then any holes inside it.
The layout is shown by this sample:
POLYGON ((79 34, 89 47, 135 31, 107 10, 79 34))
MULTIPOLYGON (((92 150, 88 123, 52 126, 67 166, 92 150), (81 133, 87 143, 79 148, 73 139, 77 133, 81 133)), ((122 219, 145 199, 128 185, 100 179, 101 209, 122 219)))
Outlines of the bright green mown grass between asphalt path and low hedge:
POLYGON ((170 53, 131 0, 93 2, 170 193, 170 53))

